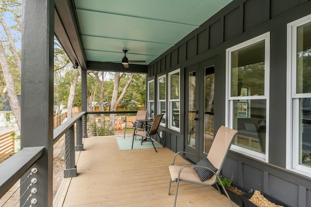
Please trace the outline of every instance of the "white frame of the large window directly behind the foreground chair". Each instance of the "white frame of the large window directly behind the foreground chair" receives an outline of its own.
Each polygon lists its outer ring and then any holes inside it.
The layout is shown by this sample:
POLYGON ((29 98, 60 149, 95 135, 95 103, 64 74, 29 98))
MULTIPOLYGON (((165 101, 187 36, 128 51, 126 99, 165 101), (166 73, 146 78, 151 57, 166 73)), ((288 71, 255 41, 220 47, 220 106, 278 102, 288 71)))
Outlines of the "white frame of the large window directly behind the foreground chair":
POLYGON ((231 53, 237 49, 244 48, 257 42, 265 41, 265 75, 264 75, 264 96, 243 96, 243 99, 262 99, 266 100, 266 152, 265 154, 255 152, 250 149, 243 148, 232 144, 230 150, 241 153, 243 155, 259 159, 264 162, 269 161, 269 89, 270 89, 270 32, 266 32, 250 40, 242 42, 231 48, 226 49, 226 102, 225 102, 225 120, 226 127, 233 128, 233 103, 234 100, 239 100, 239 96, 231 96, 231 53))

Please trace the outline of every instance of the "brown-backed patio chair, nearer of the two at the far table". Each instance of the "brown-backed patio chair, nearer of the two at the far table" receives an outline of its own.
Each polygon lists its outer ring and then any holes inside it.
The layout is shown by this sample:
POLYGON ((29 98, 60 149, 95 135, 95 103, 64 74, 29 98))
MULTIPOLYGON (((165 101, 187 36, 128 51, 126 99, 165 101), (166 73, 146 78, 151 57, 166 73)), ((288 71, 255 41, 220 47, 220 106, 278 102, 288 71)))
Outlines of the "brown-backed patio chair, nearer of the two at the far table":
MULTIPOLYGON (((154 120, 152 126, 146 125, 146 126, 144 126, 143 130, 141 130, 141 131, 138 131, 137 129, 134 130, 132 149, 133 149, 133 144, 134 144, 134 137, 136 137, 136 136, 141 136, 142 137, 141 138, 141 144, 144 141, 150 140, 152 145, 155 148, 155 144, 154 144, 153 140, 151 139, 151 136, 157 134, 157 129, 158 129, 159 125, 160 125, 162 116, 163 116, 163 113, 156 115, 155 116, 155 120, 154 120), (149 128, 149 130, 148 130, 148 128, 149 128)), ((161 137, 160 137, 160 142, 162 143, 161 137)), ((164 146, 163 143, 162 143, 162 145, 164 146)), ((156 149, 155 149, 155 152, 157 152, 156 149)))

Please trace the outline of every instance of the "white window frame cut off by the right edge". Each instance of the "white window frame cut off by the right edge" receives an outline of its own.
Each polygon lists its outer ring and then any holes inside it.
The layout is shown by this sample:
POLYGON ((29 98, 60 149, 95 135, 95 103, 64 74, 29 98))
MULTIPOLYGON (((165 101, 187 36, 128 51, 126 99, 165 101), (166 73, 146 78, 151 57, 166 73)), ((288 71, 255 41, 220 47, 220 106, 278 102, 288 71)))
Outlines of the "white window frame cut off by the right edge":
POLYGON ((311 15, 287 24, 287 107, 286 107, 286 169, 311 177, 311 169, 299 164, 299 99, 311 93, 296 93, 297 89, 297 28, 311 22, 311 15))

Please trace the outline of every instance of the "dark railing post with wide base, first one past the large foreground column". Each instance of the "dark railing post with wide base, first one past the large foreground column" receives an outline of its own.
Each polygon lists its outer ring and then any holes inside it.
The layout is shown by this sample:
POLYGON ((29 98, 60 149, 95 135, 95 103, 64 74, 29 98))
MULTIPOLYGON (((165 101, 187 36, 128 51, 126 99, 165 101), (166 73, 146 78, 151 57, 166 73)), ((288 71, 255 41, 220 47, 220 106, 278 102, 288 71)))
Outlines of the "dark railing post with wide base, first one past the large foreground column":
POLYGON ((76 177, 77 166, 75 165, 74 125, 72 125, 65 134, 65 153, 66 167, 64 170, 64 178, 76 177))

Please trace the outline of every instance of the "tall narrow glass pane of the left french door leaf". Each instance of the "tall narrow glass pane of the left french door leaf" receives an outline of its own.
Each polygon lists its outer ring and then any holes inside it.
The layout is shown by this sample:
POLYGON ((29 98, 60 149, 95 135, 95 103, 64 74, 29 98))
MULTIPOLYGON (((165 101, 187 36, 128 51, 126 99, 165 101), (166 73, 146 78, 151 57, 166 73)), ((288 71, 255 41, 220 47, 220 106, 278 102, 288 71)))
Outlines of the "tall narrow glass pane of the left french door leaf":
POLYGON ((195 148, 195 88, 196 74, 188 75, 188 145, 195 148))

